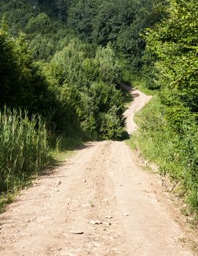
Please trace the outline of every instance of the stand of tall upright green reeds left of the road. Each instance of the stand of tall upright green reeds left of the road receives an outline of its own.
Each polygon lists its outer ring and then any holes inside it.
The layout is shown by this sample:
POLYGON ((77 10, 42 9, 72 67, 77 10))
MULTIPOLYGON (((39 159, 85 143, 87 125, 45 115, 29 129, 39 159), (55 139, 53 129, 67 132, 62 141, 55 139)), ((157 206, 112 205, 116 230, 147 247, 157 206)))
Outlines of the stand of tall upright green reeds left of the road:
POLYGON ((21 186, 47 163, 47 130, 39 115, 0 111, 0 192, 21 186))

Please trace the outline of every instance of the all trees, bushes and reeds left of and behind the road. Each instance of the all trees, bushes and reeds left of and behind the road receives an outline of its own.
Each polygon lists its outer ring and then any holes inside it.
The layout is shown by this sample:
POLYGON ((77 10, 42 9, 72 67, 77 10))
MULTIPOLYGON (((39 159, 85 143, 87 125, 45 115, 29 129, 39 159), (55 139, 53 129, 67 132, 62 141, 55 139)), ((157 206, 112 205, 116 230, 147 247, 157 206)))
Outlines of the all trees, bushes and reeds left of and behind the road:
POLYGON ((82 141, 126 137, 119 84, 142 67, 159 3, 1 1, 1 202, 82 141))

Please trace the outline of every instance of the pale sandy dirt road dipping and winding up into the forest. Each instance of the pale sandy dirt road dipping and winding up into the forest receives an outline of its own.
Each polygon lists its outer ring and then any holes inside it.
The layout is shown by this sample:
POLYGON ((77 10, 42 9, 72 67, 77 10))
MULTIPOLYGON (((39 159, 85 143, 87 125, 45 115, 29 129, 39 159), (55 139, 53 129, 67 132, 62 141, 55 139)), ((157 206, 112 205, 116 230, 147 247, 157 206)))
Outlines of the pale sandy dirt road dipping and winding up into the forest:
MULTIPOLYGON (((149 99, 132 93, 130 133, 149 99)), ((164 195, 125 142, 87 143, 1 214, 0 255, 191 256, 164 195)))

